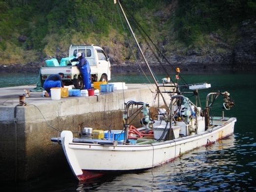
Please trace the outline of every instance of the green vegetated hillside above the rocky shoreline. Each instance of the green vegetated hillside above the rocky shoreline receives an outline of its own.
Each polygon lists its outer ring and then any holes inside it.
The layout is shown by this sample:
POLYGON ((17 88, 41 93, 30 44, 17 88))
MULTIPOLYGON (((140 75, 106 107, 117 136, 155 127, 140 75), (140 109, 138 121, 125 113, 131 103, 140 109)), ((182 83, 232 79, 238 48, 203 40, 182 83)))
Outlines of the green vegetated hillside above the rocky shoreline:
MULTIPOLYGON (((165 54, 209 43, 232 44, 241 21, 256 19, 255 0, 123 0, 165 54)), ((136 32, 136 31, 135 31, 136 32)), ((0 0, 0 64, 26 64, 68 51, 70 44, 126 44, 112 0, 0 0), (119 34, 117 36, 117 34, 119 34), (57 53, 59 52, 59 53, 57 53)), ((123 59, 130 55, 123 50, 123 59)))

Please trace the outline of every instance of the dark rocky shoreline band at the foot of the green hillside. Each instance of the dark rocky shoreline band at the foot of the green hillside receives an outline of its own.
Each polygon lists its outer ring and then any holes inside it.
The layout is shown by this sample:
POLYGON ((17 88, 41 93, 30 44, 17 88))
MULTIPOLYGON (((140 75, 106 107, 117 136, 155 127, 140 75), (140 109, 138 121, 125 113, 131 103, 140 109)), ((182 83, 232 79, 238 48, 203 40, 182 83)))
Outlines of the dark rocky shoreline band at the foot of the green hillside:
MULTIPOLYGON (((256 21, 244 21, 237 31, 239 40, 235 45, 225 43, 225 39, 212 32, 209 38, 215 42, 204 47, 196 47, 194 49, 180 48, 171 52, 170 55, 164 55, 172 67, 180 67, 183 71, 197 70, 256 70, 256 21)), ((117 54, 118 49, 122 49, 116 43, 116 46, 104 46, 104 50, 110 57, 111 68, 113 72, 133 72, 140 69, 145 69, 141 60, 137 62, 122 61, 121 55, 117 54)), ((154 70, 161 70, 159 63, 149 53, 148 47, 145 44, 141 45, 149 65, 154 70)), ((126 47, 128 48, 128 47, 126 47)), ((165 52, 163 46, 163 52, 165 52)), ((61 52, 57 50, 56 59, 59 61, 68 56, 68 52, 61 52)), ((39 68, 45 65, 45 60, 51 57, 42 58, 38 62, 28 64, 10 64, 0 65, 0 73, 14 73, 14 72, 32 72, 38 73, 39 68)), ((162 58, 160 58, 162 59, 162 58)), ((166 62, 163 62, 165 67, 170 67, 166 62)))

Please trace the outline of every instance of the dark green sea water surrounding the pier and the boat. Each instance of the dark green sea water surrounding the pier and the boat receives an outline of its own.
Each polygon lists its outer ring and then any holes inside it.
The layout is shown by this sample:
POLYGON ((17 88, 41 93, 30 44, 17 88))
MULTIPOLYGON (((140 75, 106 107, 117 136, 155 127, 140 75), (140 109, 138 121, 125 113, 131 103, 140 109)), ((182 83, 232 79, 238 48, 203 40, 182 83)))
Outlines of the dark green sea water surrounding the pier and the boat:
MULTIPOLYGON (((165 75, 157 77, 161 81, 165 75)), ((220 90, 231 93, 235 107, 225 111, 225 116, 237 118, 234 135, 148 171, 107 175, 98 180, 79 183, 67 165, 50 176, 44 175, 16 185, 5 183, 0 191, 256 192, 256 74, 212 72, 185 74, 182 77, 188 84, 211 83, 210 89, 200 91, 202 100, 205 100, 208 92, 220 90)), ((37 80, 38 74, 1 74, 0 87, 36 85, 37 80)), ((140 73, 129 73, 112 74, 110 82, 148 83, 148 80, 140 73)), ((217 103, 216 107, 222 111, 221 104, 217 103)))

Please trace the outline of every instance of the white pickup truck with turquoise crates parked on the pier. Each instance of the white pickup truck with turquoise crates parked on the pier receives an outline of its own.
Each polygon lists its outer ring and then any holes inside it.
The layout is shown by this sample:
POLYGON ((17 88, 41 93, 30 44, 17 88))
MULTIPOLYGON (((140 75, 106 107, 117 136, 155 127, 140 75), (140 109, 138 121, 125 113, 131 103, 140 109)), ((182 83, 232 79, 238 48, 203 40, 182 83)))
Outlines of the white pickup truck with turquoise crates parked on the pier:
MULTIPOLYGON (((69 56, 66 61, 57 62, 54 65, 42 66, 40 69, 42 83, 51 75, 57 73, 64 73, 64 85, 74 85, 78 89, 84 87, 83 75, 77 66, 68 65, 68 60, 76 57, 78 52, 84 52, 85 58, 90 64, 91 68, 91 82, 109 81, 111 78, 110 62, 104 50, 99 46, 92 45, 70 45, 69 56)), ((55 59, 56 60, 56 59, 55 59)), ((62 59, 63 60, 63 59, 62 59)), ((57 60, 56 60, 57 61, 57 60)), ((46 63, 47 64, 47 63, 46 63)))

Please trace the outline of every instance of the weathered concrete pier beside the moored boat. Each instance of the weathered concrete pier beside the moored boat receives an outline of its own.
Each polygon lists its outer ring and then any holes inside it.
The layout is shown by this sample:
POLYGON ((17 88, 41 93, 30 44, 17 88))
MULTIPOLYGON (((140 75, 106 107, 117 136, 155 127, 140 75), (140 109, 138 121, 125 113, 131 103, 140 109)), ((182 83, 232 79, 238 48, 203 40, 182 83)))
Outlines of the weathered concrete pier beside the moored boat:
MULTIPOLYGON (((81 123, 82 128, 93 130, 107 130, 110 125, 120 130, 124 103, 145 102, 150 109, 157 107, 154 85, 127 86, 98 96, 61 100, 30 92, 24 106, 20 105, 19 95, 35 85, 0 88, 0 181, 25 181, 66 166, 62 146, 50 141, 63 130, 78 132, 81 123)), ((162 99, 159 104, 164 105, 162 99)))

